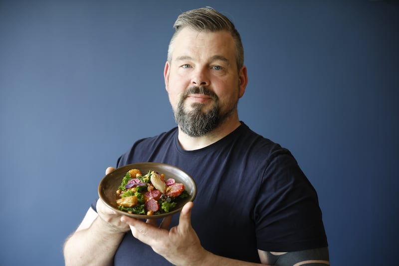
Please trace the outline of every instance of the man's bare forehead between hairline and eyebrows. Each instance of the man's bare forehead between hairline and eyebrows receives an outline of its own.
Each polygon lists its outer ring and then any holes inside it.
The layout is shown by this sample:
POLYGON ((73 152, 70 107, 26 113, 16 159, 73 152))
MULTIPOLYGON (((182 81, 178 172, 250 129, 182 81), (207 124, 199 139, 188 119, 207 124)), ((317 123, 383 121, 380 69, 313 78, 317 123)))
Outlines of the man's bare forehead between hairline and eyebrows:
POLYGON ((186 56, 212 57, 222 55, 235 58, 235 43, 227 31, 195 31, 190 28, 182 29, 175 38, 173 59, 186 56))

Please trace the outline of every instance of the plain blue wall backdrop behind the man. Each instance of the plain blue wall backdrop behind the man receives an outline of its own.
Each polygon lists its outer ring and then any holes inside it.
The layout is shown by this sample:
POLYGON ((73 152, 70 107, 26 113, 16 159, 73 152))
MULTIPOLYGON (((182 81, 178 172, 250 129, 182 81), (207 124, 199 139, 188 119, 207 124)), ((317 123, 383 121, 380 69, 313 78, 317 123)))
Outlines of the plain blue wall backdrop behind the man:
POLYGON ((332 265, 394 264, 398 2, 1 0, 0 265, 63 265, 106 167, 175 126, 167 46, 203 6, 241 33, 239 118, 318 191, 332 265))

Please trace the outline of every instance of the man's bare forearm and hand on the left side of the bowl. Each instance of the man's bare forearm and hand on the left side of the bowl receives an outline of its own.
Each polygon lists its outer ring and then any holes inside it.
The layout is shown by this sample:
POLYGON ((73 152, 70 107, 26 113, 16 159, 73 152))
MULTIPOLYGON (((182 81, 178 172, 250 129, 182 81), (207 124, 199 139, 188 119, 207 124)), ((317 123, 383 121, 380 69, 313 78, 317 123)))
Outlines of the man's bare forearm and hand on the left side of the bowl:
MULTIPOLYGON (((107 169, 107 174, 112 169, 107 169)), ((64 244, 65 265, 112 265, 116 250, 129 227, 120 215, 97 201, 97 213, 89 209, 77 230, 64 244)))

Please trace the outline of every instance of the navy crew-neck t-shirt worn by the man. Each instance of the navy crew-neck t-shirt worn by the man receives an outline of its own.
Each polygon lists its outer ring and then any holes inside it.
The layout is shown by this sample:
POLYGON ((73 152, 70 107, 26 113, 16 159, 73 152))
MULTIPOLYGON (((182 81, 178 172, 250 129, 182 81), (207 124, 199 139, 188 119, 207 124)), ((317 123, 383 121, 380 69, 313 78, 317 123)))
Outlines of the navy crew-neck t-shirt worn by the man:
MULTIPOLYGON (((197 184, 192 225, 213 254, 260 263, 257 250, 289 252, 327 247, 316 191, 291 153, 243 122, 205 148, 186 151, 174 128, 145 138, 117 162, 177 166, 197 184)), ((178 224, 175 215, 171 226, 178 224)), ((119 265, 170 265, 127 233, 114 259, 119 265)))

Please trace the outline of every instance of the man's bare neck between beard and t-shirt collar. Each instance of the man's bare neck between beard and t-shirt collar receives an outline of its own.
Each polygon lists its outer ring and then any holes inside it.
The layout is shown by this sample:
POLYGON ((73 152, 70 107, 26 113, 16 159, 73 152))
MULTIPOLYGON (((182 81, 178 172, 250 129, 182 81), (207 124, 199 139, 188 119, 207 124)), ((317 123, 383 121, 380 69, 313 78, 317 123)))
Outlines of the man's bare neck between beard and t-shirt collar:
POLYGON ((179 143, 184 150, 198 150, 224 138, 240 125, 241 123, 238 120, 238 116, 230 117, 229 119, 226 119, 223 123, 219 124, 215 129, 201 137, 191 137, 184 133, 179 127, 179 143))

